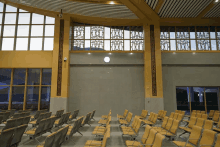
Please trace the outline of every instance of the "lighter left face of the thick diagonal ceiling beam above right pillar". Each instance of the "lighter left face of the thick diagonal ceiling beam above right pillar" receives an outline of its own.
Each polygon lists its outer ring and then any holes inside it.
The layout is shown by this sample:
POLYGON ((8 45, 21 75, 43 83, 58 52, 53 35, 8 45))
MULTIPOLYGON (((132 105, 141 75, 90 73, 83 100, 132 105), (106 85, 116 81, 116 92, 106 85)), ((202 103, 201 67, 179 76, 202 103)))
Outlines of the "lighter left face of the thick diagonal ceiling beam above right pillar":
POLYGON ((148 24, 152 22, 152 19, 145 16, 144 13, 131 2, 131 0, 120 0, 120 1, 122 4, 127 6, 139 19, 141 19, 143 23, 148 24))

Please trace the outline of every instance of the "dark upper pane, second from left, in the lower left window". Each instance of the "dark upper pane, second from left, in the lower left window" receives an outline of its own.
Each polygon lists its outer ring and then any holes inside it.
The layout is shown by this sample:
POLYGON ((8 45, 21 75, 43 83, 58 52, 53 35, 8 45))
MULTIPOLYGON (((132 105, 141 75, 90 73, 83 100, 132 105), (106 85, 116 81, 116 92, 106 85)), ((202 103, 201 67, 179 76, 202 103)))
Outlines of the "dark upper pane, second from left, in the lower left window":
POLYGON ((26 69, 14 69, 13 85, 25 85, 26 69))

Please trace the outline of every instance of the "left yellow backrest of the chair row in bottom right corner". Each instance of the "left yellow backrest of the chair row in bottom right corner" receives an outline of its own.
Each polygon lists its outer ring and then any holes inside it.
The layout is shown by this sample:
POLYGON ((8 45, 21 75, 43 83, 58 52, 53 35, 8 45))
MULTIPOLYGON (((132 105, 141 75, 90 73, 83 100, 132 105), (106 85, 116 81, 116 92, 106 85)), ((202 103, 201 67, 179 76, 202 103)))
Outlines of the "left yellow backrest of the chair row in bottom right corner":
POLYGON ((202 133, 202 127, 193 126, 192 132, 189 135, 189 142, 197 146, 201 133, 202 133))

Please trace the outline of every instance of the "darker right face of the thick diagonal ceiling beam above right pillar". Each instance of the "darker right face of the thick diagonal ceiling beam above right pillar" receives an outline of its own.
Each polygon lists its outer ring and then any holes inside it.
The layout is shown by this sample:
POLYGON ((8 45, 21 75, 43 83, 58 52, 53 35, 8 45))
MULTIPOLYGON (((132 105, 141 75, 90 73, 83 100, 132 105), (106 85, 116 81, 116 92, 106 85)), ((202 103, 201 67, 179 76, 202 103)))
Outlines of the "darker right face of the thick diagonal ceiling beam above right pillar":
POLYGON ((148 20, 158 23, 160 17, 144 0, 130 0, 130 2, 133 3, 148 20))

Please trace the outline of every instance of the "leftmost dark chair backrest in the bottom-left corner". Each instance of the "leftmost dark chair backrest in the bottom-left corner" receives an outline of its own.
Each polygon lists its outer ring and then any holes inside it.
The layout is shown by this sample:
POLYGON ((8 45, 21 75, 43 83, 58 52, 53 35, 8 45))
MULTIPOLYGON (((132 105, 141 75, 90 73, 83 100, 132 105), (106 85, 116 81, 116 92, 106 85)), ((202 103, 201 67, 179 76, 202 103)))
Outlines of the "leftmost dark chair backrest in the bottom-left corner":
POLYGON ((14 134, 14 130, 15 128, 10 128, 1 132, 0 135, 1 147, 8 147, 10 145, 11 138, 14 134))

